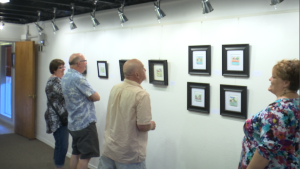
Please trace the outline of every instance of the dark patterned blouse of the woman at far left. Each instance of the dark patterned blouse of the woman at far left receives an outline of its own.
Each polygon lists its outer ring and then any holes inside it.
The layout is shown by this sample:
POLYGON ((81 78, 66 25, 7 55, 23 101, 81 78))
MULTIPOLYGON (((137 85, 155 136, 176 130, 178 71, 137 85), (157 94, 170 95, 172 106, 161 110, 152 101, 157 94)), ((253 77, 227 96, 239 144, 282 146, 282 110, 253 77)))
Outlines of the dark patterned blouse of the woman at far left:
POLYGON ((50 77, 45 88, 47 98, 47 110, 45 112, 45 120, 47 126, 47 133, 55 132, 60 126, 61 122, 57 116, 55 110, 52 108, 49 100, 52 105, 55 107, 56 111, 59 114, 65 112, 65 99, 61 90, 61 79, 58 77, 50 77))

